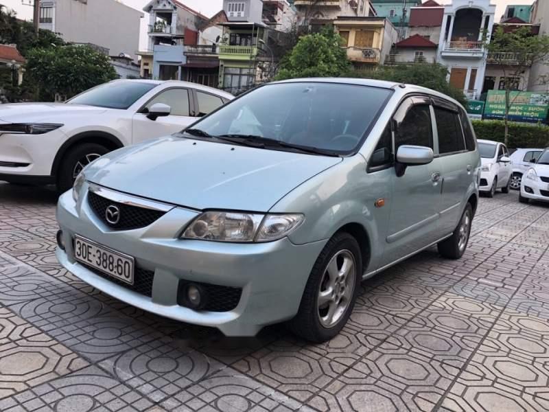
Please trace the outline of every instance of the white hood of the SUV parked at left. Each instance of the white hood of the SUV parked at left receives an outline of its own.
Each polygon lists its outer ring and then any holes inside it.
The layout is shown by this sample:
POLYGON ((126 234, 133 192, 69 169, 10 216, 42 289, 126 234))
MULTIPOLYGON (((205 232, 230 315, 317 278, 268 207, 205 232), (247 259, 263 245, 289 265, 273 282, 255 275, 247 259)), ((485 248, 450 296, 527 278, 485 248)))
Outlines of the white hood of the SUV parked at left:
POLYGON ((73 115, 99 115, 107 108, 65 103, 12 103, 0 104, 3 123, 56 122, 73 115))

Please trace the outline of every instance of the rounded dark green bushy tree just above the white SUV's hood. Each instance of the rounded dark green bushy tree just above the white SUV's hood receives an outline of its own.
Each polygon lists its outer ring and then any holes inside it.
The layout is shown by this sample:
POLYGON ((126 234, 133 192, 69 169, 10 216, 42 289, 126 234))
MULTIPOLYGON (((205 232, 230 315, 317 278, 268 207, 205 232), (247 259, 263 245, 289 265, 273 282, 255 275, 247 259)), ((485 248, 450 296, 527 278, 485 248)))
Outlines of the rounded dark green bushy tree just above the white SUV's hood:
POLYGON ((32 49, 26 57, 27 76, 40 84, 43 100, 53 100, 56 93, 71 98, 118 77, 108 56, 86 45, 32 49))

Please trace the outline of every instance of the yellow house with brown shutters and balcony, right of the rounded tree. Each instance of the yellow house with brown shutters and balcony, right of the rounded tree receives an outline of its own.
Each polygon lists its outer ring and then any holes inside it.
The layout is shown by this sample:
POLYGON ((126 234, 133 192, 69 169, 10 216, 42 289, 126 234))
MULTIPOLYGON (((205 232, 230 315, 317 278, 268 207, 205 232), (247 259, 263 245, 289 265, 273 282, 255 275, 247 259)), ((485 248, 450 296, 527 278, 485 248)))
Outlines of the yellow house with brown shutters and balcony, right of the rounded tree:
POLYGON ((344 40, 347 58, 358 69, 383 64, 398 38, 386 17, 339 16, 334 25, 344 40))

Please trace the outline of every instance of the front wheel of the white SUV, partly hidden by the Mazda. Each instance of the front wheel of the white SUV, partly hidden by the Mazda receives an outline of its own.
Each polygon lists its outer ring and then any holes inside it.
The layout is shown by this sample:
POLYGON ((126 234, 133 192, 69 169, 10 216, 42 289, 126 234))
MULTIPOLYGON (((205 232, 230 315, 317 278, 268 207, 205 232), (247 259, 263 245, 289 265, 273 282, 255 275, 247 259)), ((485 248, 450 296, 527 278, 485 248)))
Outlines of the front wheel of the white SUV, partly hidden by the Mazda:
POLYGON ((109 151, 105 146, 96 143, 84 143, 69 149, 58 170, 58 192, 67 192, 73 187, 74 179, 86 165, 109 151))

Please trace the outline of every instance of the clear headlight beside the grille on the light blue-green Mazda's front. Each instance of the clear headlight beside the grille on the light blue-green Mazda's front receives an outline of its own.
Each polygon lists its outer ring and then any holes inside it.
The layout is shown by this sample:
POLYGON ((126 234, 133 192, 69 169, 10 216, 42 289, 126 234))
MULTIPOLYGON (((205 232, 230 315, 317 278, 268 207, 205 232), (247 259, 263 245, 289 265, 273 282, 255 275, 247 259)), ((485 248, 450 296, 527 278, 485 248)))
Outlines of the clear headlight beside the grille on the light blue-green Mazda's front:
POLYGON ((191 222, 181 238, 218 242, 270 242, 287 236, 301 222, 301 214, 206 211, 191 222))

